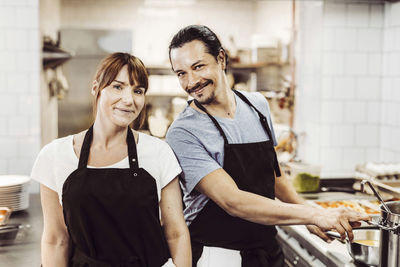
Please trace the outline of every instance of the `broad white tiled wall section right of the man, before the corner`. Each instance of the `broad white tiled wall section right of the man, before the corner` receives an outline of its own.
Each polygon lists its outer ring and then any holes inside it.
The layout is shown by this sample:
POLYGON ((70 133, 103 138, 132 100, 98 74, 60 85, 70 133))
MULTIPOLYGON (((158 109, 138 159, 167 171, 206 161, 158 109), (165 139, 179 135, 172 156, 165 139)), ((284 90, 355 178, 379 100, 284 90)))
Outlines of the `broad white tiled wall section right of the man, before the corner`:
POLYGON ((299 4, 295 127, 304 136, 300 156, 321 164, 324 177, 351 177, 356 164, 381 159, 384 5, 299 4), (320 34, 320 42, 309 34, 320 34), (309 70, 314 82, 302 77, 306 57, 315 66, 309 70), (311 113, 318 118, 310 120, 311 113))

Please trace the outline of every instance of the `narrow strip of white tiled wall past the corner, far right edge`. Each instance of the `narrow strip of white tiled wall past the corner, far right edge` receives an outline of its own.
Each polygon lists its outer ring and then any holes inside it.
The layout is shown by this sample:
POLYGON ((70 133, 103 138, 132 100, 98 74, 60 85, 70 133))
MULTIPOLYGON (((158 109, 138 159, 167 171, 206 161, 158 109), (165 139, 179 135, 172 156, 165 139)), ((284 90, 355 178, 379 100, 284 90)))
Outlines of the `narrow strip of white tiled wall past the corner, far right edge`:
POLYGON ((381 157, 400 161, 400 3, 385 4, 381 157))

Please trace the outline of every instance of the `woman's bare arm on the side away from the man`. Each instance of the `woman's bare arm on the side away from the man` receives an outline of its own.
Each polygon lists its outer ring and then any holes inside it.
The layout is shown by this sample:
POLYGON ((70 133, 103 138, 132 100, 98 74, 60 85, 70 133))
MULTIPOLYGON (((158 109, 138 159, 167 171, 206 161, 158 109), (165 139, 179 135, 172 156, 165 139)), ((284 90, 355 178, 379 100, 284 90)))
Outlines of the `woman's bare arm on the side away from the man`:
POLYGON ((43 267, 66 267, 68 265, 69 235, 58 194, 41 184, 40 199, 44 221, 42 265, 43 267))

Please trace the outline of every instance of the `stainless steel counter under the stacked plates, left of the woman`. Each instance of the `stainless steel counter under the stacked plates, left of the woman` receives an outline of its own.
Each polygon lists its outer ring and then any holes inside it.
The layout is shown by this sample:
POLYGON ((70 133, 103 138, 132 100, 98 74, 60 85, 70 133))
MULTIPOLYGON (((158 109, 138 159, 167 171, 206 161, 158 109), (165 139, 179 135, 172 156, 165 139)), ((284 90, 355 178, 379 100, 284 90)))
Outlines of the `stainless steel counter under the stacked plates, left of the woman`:
POLYGON ((40 239, 43 230, 42 208, 39 194, 31 194, 29 208, 11 214, 9 223, 25 226, 20 229, 15 241, 0 246, 0 266, 40 266, 40 239))

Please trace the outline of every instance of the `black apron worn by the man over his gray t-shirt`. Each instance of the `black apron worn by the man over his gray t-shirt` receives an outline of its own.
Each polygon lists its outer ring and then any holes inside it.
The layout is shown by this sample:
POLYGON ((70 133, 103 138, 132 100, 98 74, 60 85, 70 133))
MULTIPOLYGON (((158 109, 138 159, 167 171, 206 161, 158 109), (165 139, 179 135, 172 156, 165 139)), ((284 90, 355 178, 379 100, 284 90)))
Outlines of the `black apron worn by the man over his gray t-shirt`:
MULTIPOLYGON (((224 139, 223 169, 238 188, 270 199, 275 198, 275 175, 281 176, 271 130, 266 117, 240 92, 234 92, 260 117, 269 140, 256 143, 229 144, 217 120, 207 113, 224 139)), ((251 129, 248 129, 251 131, 251 129)), ((283 266, 284 256, 275 236, 275 226, 266 226, 230 216, 211 199, 189 226, 193 266, 197 265, 203 246, 240 250, 243 267, 283 266)))

